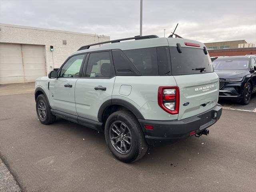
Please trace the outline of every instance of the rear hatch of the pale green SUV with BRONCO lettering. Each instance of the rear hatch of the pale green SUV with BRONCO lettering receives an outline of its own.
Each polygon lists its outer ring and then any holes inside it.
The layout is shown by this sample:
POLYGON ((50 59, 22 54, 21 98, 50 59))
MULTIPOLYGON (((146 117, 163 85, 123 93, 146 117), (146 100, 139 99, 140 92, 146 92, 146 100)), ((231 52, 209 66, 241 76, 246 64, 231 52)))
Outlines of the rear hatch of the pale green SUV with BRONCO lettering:
POLYGON ((204 44, 176 38, 168 38, 168 42, 172 76, 180 90, 178 120, 216 106, 219 78, 214 72, 208 52, 204 52, 204 44), (177 46, 180 46, 179 50, 177 46))

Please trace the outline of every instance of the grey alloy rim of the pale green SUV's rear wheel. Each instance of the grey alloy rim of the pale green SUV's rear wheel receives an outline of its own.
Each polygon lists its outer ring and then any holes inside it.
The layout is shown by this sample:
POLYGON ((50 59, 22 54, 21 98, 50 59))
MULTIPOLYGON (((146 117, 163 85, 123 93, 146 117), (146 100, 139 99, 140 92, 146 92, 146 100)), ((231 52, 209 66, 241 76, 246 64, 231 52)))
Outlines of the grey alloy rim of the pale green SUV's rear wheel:
POLYGON ((112 146, 121 154, 128 154, 132 149, 132 134, 126 124, 115 121, 109 130, 112 146))

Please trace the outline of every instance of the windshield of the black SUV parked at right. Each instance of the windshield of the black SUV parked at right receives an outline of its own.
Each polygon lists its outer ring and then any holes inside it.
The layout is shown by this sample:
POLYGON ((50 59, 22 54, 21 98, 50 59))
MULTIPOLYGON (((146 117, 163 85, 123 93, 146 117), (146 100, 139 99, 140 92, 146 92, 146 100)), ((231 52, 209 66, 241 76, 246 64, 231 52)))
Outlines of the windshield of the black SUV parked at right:
POLYGON ((214 69, 247 69, 248 59, 215 60, 212 62, 214 69))

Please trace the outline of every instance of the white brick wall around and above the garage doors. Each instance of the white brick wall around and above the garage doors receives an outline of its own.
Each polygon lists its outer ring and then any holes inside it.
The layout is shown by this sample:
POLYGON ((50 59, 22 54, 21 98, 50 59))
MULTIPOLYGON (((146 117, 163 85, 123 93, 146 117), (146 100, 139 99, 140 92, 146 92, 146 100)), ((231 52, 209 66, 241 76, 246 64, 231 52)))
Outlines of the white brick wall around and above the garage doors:
POLYGON ((47 73, 53 68, 59 68, 66 58, 81 46, 109 40, 109 36, 96 34, 0 24, 0 42, 45 46, 47 73), (66 40, 67 44, 64 45, 62 40, 66 40), (50 51, 51 45, 54 46, 53 52, 50 51))

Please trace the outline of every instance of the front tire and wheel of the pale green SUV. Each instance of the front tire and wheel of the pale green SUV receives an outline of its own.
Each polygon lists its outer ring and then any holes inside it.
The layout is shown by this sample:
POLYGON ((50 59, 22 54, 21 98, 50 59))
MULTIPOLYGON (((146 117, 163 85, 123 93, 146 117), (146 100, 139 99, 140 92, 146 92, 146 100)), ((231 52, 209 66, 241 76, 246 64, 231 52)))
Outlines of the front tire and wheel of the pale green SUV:
POLYGON ((51 124, 56 120, 56 116, 52 114, 48 100, 44 94, 40 94, 36 99, 36 113, 42 124, 51 124), (42 110, 40 109, 45 109, 45 113, 42 113, 42 110))

